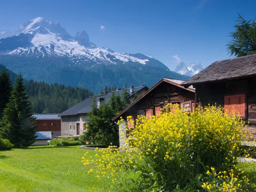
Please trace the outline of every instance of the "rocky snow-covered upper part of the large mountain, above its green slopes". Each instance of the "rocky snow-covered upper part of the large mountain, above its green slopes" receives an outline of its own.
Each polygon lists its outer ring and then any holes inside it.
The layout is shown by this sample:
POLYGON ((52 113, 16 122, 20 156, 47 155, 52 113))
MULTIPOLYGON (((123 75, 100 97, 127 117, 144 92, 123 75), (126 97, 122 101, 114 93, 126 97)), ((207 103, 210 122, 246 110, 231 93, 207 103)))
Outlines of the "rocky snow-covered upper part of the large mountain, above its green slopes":
POLYGON ((143 54, 115 52, 91 43, 85 31, 69 35, 58 22, 42 17, 22 23, 12 38, 1 39, 0 54, 23 57, 62 57, 69 58, 73 64, 91 67, 96 64, 137 63, 169 70, 157 59, 143 54))

